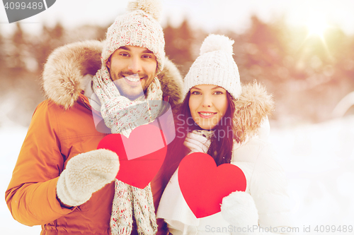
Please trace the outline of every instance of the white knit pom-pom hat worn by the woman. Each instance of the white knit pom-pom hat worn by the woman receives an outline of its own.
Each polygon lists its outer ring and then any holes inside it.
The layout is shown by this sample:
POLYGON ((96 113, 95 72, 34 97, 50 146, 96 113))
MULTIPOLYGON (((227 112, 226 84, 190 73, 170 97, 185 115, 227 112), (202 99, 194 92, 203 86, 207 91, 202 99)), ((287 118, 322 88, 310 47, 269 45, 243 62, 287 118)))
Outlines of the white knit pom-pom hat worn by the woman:
POLYGON ((184 95, 195 85, 218 85, 235 99, 241 94, 239 69, 232 58, 233 40, 223 35, 209 35, 202 42, 200 56, 184 78, 184 95))

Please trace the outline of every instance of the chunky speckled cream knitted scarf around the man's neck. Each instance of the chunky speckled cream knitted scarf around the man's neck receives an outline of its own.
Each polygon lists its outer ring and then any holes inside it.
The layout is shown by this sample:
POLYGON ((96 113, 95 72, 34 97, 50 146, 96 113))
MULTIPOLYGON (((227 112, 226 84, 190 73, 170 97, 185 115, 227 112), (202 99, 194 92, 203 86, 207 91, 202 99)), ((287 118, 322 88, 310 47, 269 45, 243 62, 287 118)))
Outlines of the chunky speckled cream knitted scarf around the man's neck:
MULTIPOLYGON (((161 102, 151 102, 162 100, 161 84, 156 77, 147 88, 146 98, 142 95, 131 101, 120 95, 118 88, 110 80, 109 73, 101 69, 93 76, 93 91, 101 102, 101 115, 105 125, 112 133, 120 133, 126 137, 137 126, 154 121, 161 109, 161 102)), ((133 220, 139 234, 156 234, 151 186, 149 184, 141 189, 115 179, 115 195, 110 217, 111 234, 131 234, 133 220)))

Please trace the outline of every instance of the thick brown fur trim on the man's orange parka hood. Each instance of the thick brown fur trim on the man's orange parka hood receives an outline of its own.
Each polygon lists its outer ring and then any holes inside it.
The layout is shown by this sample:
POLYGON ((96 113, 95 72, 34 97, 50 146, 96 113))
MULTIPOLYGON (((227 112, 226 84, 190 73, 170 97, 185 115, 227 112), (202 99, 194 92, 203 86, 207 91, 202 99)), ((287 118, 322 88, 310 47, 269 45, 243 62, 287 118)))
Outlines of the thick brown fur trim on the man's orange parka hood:
MULTIPOLYGON (((86 74, 95 75, 101 68, 103 42, 90 40, 58 47, 47 59, 42 74, 45 96, 69 109, 85 88, 86 74)), ((183 80, 176 66, 165 58, 164 70, 157 76, 172 107, 181 101, 183 80)))

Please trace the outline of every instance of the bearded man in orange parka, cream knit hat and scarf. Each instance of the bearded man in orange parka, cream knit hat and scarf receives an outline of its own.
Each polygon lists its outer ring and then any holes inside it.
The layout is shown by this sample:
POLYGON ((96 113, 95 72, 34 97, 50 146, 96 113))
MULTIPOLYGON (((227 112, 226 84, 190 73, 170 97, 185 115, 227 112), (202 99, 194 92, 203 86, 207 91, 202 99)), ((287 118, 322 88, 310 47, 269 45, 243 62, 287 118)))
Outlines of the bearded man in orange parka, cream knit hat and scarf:
POLYGON ((173 106, 181 98, 181 76, 165 59, 156 3, 132 2, 129 10, 108 28, 105 42, 69 44, 45 64, 48 99, 33 114, 6 191, 14 219, 41 224, 41 234, 156 233, 159 176, 151 188, 131 187, 115 180, 117 154, 96 150, 107 133, 127 136, 142 118, 154 121, 147 100, 169 97, 173 106))

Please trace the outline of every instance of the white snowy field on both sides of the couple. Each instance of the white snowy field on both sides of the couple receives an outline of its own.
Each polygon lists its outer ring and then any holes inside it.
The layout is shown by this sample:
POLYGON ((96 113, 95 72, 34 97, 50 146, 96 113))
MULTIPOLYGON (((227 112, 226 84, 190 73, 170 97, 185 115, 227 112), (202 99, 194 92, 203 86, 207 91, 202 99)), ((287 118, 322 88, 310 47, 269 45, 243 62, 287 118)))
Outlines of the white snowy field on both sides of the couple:
MULTIPOLYGON (((40 227, 16 222, 4 200, 26 128, 0 128, 1 234, 40 234, 40 227)), ((315 125, 271 129, 270 141, 287 172, 296 234, 354 234, 319 232, 320 226, 354 226, 354 116, 315 125), (310 232, 308 228, 310 227, 310 232), (306 231, 304 231, 306 228, 306 231)), ((325 227, 322 227, 325 229, 325 227)))

